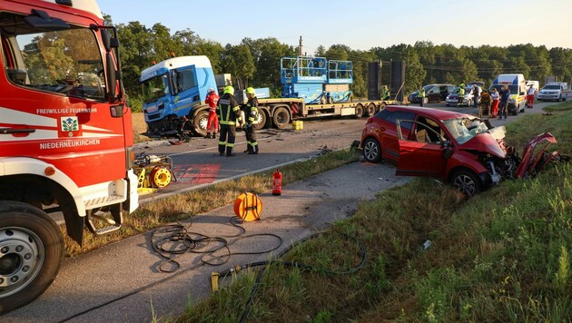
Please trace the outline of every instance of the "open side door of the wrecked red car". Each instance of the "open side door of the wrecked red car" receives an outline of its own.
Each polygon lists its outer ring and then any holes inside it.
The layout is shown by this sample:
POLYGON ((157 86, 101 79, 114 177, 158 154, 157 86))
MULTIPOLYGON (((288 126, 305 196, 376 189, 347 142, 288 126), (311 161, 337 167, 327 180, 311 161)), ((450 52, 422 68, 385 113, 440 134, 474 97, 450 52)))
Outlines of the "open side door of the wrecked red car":
POLYGON ((398 120, 399 162, 396 175, 441 177, 447 164, 449 142, 439 132, 421 122, 413 122, 413 130, 409 138, 403 138, 399 132, 398 120))

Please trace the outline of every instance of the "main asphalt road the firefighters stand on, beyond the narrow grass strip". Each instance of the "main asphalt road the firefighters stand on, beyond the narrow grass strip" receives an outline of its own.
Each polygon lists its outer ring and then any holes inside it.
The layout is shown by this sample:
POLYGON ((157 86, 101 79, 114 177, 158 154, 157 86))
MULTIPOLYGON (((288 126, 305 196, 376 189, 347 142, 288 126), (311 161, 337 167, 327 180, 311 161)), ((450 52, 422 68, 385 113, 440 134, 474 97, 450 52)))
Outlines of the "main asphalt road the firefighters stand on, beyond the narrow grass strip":
MULTIPOLYGON (((542 106, 537 103, 526 113, 539 113, 542 106)), ((437 108, 460 113, 478 114, 474 107, 447 107, 445 103, 429 103, 429 108, 437 108)), ((522 115, 519 113, 518 116, 522 115)), ((508 116, 508 120, 491 120, 493 125, 510 122, 518 116, 508 116)), ((299 162, 330 150, 350 147, 359 141, 365 118, 324 119, 305 121, 300 131, 262 130, 257 132, 260 153, 248 155, 244 132, 237 132, 235 157, 228 158, 218 153, 218 139, 192 138, 190 142, 173 145, 170 141, 144 142, 137 145, 136 153, 169 156, 173 160, 173 173, 176 181, 154 194, 143 195, 140 201, 147 202, 182 191, 194 190, 220 181, 232 180, 252 172, 280 168, 292 162, 299 162)), ((171 142, 178 142, 172 140, 171 142)))

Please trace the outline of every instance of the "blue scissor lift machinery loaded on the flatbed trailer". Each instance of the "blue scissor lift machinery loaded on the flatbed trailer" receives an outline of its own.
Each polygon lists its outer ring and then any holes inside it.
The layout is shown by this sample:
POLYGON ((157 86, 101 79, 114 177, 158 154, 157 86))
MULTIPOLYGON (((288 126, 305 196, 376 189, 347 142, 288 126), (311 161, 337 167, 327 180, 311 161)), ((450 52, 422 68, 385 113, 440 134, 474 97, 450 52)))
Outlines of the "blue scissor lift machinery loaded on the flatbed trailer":
POLYGON ((328 61, 324 57, 282 57, 282 97, 301 98, 307 104, 351 101, 350 61, 328 61))

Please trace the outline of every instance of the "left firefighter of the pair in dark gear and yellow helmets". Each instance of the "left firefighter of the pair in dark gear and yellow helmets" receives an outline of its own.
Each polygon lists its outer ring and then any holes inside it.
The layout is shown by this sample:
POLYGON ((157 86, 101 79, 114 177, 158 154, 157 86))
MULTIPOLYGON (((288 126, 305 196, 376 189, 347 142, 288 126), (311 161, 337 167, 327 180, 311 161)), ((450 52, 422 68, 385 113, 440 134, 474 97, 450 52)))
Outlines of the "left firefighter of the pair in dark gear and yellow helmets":
POLYGON ((217 110, 221 123, 219 154, 223 156, 226 150, 226 157, 235 156, 235 153, 232 152, 232 147, 234 147, 236 135, 236 122, 239 122, 239 125, 242 126, 242 118, 241 109, 236 99, 234 99, 234 88, 231 85, 224 88, 217 110))

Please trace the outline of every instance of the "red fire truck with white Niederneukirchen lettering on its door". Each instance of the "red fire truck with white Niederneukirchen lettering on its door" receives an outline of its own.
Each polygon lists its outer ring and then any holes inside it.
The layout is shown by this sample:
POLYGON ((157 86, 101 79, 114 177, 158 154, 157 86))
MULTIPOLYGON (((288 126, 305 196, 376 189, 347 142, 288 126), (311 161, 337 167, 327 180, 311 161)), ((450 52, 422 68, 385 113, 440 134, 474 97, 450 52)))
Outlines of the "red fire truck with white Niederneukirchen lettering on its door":
POLYGON ((132 115, 116 30, 94 0, 0 0, 0 313, 44 292, 64 254, 59 214, 118 230, 135 210, 132 115))

